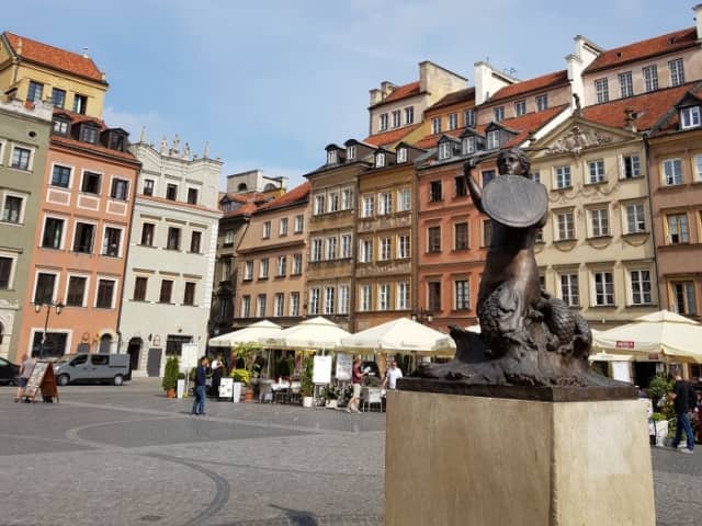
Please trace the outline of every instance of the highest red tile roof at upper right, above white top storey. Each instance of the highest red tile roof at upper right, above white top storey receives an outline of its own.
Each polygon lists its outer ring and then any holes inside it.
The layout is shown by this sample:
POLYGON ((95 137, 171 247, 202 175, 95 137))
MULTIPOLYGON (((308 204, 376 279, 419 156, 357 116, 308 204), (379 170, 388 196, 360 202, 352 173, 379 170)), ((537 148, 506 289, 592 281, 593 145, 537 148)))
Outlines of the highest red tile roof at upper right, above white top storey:
POLYGON ((602 53, 590 66, 585 69, 585 73, 600 71, 607 68, 618 67, 634 60, 650 58, 658 55, 673 53, 697 44, 698 34, 695 27, 688 27, 675 31, 660 36, 655 36, 625 46, 615 47, 602 53))

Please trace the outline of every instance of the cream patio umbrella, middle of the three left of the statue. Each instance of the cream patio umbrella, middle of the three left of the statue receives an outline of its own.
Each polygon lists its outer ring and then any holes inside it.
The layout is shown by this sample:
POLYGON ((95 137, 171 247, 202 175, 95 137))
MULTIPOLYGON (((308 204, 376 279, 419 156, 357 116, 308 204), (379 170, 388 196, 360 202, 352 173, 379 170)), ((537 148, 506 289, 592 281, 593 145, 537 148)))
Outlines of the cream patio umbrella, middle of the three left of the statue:
POLYGON ((342 338, 350 335, 351 333, 344 331, 332 321, 319 316, 260 338, 259 343, 273 348, 320 348, 322 351, 331 351, 339 346, 342 338))

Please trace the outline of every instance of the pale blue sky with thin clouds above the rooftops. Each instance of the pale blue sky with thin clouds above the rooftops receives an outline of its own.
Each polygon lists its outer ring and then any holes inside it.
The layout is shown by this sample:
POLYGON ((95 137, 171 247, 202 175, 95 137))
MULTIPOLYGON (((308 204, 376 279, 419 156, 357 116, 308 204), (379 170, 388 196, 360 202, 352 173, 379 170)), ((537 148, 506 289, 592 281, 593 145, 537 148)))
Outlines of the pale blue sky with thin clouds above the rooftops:
MULTIPOLYGON (((224 173, 290 178, 367 135, 369 90, 431 60, 473 80, 489 58, 528 79, 565 68, 573 37, 615 47, 694 25, 697 0, 32 0, 2 30, 90 56, 105 121, 132 139, 210 141, 224 173)), ((182 144, 181 142, 181 144, 182 144)))

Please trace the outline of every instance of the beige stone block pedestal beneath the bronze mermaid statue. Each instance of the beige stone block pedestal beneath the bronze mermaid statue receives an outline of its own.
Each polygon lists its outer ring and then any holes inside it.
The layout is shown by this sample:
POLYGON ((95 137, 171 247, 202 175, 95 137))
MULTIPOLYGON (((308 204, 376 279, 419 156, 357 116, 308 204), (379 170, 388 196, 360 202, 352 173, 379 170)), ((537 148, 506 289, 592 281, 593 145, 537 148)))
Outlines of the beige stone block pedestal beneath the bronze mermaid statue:
POLYGON ((645 404, 528 398, 389 391, 385 525, 654 526, 645 404))

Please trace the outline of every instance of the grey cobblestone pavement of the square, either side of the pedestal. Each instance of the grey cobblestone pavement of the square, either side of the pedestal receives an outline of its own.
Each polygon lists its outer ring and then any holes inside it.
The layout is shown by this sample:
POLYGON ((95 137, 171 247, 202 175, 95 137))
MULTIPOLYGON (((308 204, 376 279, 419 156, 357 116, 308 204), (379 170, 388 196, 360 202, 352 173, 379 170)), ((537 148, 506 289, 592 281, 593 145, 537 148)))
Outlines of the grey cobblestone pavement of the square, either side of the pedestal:
MULTIPOLYGON (((151 379, 0 388, 0 525, 380 526, 385 418, 166 399, 151 379)), ((653 449, 658 526, 700 524, 702 448, 653 449)))

